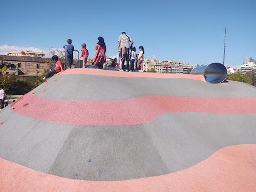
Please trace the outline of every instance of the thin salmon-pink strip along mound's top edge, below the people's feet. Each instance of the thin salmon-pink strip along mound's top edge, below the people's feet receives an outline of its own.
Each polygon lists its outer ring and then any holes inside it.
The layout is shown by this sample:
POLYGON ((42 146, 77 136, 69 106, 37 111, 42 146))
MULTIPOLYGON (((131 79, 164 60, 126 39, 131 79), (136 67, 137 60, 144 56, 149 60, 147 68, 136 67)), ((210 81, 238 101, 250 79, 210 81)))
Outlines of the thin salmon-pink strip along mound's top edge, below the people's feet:
POLYGON ((200 80, 205 82, 205 78, 202 75, 190 75, 190 74, 166 74, 166 73, 135 73, 135 72, 119 72, 113 70, 97 70, 92 68, 73 68, 58 73, 58 75, 68 74, 84 74, 84 75, 102 75, 111 77, 149 77, 149 78, 189 78, 193 80, 200 80))

